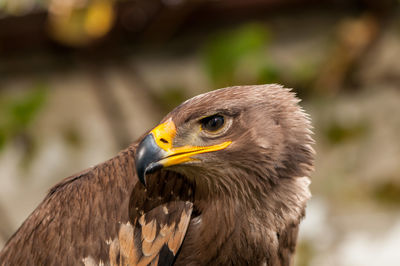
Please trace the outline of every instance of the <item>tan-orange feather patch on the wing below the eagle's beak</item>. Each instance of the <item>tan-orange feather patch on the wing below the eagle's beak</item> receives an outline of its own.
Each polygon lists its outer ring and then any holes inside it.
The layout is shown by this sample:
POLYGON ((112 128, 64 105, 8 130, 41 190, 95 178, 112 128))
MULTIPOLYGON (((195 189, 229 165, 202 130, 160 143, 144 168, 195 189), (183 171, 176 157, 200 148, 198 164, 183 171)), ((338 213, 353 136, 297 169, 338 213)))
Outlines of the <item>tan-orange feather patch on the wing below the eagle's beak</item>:
MULTIPOLYGON (((160 260, 160 251, 164 245, 175 256, 185 237, 187 227, 192 213, 192 203, 174 202, 171 206, 160 205, 150 212, 136 219, 134 225, 131 223, 121 224, 118 237, 110 243, 109 264, 110 265, 157 265, 160 260), (180 210, 170 211, 169 208, 180 210), (167 209, 167 211, 165 211, 167 209), (175 213, 175 221, 166 224, 175 213), (149 215, 147 217, 147 215, 149 215), (153 217, 149 220, 149 217, 153 217), (140 244, 138 244, 140 243, 140 244)), ((91 258, 86 258, 88 265, 93 263, 91 258)))

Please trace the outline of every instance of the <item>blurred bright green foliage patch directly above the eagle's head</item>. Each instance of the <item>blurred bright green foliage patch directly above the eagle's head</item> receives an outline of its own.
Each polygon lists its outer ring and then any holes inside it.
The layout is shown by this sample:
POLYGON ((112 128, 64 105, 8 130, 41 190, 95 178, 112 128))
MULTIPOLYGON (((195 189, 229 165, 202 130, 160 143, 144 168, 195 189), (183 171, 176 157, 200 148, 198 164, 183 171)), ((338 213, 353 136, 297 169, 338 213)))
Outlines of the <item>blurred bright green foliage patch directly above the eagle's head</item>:
POLYGON ((214 85, 240 83, 236 73, 239 67, 254 69, 259 74, 256 79, 261 82, 275 80, 277 70, 272 64, 266 64, 269 40, 267 29, 259 24, 244 25, 214 36, 204 53, 206 71, 214 85))

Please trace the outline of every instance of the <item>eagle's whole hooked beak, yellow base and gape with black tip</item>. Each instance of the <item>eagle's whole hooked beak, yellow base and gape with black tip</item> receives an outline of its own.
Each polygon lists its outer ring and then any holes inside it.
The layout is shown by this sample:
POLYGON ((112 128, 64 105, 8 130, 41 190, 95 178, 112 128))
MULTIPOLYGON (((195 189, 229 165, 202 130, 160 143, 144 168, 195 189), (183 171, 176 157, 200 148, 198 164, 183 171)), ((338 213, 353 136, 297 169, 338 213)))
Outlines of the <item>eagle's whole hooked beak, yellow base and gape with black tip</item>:
POLYGON ((140 142, 135 155, 136 172, 140 182, 146 185, 146 175, 155 171, 185 162, 196 161, 198 159, 191 156, 218 151, 225 149, 232 142, 225 141, 223 143, 212 146, 190 146, 174 148, 172 146, 176 135, 176 127, 172 119, 155 127, 140 142))

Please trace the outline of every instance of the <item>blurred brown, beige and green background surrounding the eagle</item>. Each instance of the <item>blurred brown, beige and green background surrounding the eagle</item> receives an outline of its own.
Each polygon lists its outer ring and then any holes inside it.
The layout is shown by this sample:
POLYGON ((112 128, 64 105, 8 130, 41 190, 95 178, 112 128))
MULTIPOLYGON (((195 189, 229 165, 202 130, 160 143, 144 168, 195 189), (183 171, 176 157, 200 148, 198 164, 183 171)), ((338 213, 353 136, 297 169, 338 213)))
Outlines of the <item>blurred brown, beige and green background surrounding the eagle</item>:
POLYGON ((0 248, 183 100, 280 83, 318 154, 296 265, 400 265, 399 4, 0 0, 0 248))

